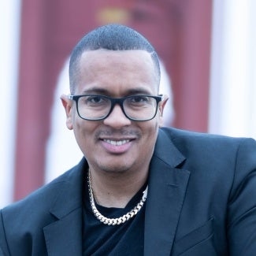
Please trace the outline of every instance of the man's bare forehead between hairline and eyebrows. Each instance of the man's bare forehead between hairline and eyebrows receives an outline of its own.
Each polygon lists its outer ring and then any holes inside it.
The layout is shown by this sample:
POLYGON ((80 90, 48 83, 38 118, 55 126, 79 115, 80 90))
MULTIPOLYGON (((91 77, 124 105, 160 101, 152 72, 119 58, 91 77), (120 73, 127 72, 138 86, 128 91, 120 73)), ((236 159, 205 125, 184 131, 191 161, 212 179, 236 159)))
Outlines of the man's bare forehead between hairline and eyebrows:
POLYGON ((89 50, 80 58, 80 84, 129 87, 138 84, 158 90, 151 55, 145 50, 89 50), (129 84, 131 83, 131 84, 129 84))

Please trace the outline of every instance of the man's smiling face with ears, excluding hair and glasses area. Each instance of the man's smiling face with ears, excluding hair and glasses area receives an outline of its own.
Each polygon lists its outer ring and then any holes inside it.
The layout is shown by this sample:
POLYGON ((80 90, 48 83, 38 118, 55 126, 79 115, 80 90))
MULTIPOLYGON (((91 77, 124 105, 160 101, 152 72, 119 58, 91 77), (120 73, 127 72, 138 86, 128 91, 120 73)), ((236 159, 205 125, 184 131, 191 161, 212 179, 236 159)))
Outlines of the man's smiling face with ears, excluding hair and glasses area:
MULTIPOLYGON (((153 61, 143 50, 92 50, 80 59, 79 83, 74 95, 158 95, 153 61)), ((62 97, 67 126, 91 169, 105 172, 138 172, 148 168, 161 123, 164 103, 150 121, 130 121, 116 105, 102 121, 85 121, 76 112, 76 103, 62 97)))

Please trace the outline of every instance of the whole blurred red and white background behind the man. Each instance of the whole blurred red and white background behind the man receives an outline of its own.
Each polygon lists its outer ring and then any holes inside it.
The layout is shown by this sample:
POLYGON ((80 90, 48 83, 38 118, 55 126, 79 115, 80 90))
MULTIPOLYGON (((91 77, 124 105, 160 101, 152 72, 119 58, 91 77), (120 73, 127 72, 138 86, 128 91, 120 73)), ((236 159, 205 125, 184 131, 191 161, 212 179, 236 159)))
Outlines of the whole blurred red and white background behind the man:
POLYGON ((108 23, 157 50, 165 125, 256 139, 256 1, 2 0, 0 208, 82 158, 59 97, 72 47, 108 23))

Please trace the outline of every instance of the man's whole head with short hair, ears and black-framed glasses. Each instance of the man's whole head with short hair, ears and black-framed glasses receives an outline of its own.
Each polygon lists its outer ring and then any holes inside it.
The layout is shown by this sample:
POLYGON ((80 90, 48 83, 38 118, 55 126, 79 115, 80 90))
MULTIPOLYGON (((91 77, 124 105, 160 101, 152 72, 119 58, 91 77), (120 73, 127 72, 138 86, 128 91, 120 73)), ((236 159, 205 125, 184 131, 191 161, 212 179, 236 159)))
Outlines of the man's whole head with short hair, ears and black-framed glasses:
POLYGON ((158 97, 158 68, 153 47, 124 26, 98 28, 73 50, 75 98, 61 100, 91 170, 147 172, 167 100, 158 97))

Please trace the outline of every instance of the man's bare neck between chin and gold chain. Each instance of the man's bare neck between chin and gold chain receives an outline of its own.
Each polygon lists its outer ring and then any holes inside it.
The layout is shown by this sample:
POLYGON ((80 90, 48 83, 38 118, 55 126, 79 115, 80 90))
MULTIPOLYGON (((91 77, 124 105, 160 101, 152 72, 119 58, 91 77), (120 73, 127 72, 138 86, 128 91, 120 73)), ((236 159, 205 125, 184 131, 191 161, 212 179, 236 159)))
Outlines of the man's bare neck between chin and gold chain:
POLYGON ((89 169, 95 200, 101 206, 124 208, 147 181, 148 169, 131 173, 106 173, 89 169))

